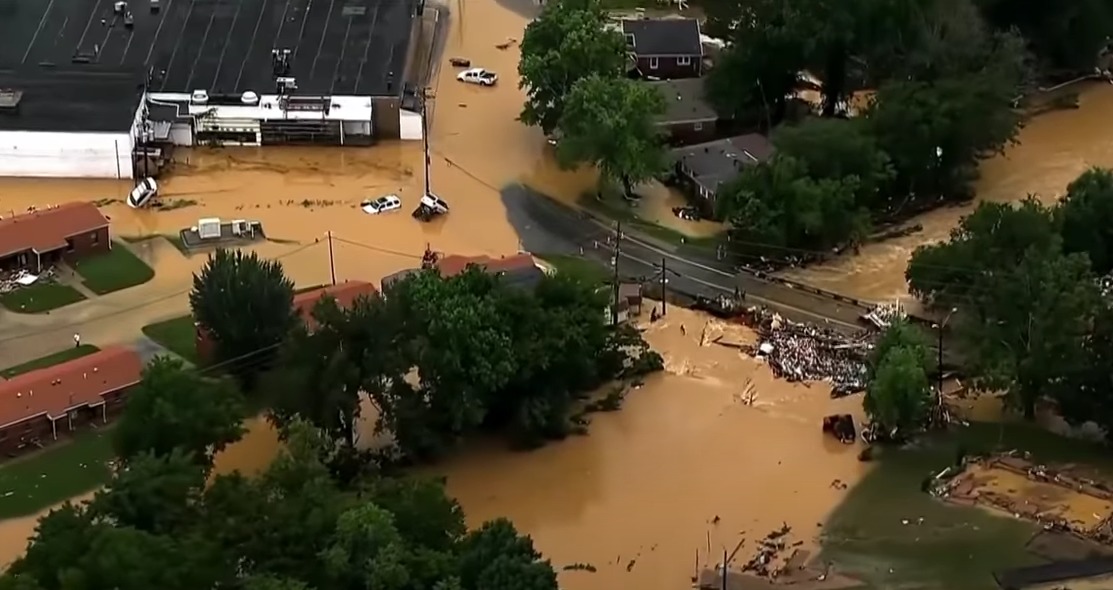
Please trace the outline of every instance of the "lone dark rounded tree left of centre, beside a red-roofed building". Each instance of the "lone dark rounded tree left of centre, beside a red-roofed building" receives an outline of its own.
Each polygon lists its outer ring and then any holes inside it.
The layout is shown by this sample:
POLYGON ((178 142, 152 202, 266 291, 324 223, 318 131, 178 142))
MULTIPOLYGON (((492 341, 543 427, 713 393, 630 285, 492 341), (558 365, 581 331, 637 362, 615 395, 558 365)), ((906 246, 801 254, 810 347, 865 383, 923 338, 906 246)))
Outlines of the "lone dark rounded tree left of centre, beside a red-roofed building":
POLYGON ((282 263, 218 249, 194 275, 189 308, 216 345, 213 361, 249 376, 268 364, 296 325, 294 283, 282 263))

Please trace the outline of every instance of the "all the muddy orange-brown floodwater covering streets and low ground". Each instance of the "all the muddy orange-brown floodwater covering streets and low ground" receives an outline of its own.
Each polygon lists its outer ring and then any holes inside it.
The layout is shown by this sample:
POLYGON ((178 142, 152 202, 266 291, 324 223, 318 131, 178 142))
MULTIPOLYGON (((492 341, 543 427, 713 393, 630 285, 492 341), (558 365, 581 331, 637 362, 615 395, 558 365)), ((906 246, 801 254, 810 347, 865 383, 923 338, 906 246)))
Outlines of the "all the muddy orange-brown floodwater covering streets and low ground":
MULTIPOLYGON (((165 200, 181 200, 173 210, 128 209, 121 199, 129 186, 121 183, 3 178, 0 212, 112 199, 105 212, 119 236, 175 234, 201 217, 258 219, 277 242, 257 249, 284 256, 299 285, 329 279, 328 232, 337 238, 341 279, 377 281, 414 266, 426 244, 460 254, 512 253, 518 238, 498 187, 524 181, 574 201, 595 178, 590 171, 559 170, 540 131, 515 120, 523 98, 516 87, 518 49, 495 46, 521 39, 526 19, 495 0, 452 2, 451 8, 431 132, 433 187, 453 206, 444 219, 418 224, 410 218, 423 183, 418 144, 187 151, 162 181, 165 200), (498 71, 500 86, 456 82, 446 63, 452 56, 498 71), (358 210, 361 199, 386 193, 402 196, 403 212, 372 217, 358 210)), ((1095 87, 1083 95, 1081 109, 1031 121, 1020 146, 983 166, 981 198, 1040 193, 1051 199, 1085 167, 1113 165, 1111 107, 1113 87, 1095 87)), ((693 235, 716 229, 677 220, 670 212, 681 205, 676 195, 659 187, 648 190, 652 198, 640 215, 693 235)), ((920 234, 868 246, 859 257, 800 276, 870 298, 902 296, 908 253, 945 237, 968 210, 929 214, 920 222, 920 234)), ((158 271, 147 285, 45 316, 0 313, 0 358, 10 361, 0 364, 69 346, 75 331, 93 344, 134 342, 142 325, 187 312, 184 293, 204 257, 187 258, 160 239, 134 248, 158 271)), ((666 373, 632 392, 620 412, 594 415, 590 435, 532 453, 512 453, 496 443, 470 445, 429 472, 447 476, 450 492, 472 523, 510 517, 558 567, 583 562, 598 568, 595 573, 563 572, 562 586, 571 590, 683 588, 697 552, 708 561, 708 544, 713 561, 740 537, 752 548, 782 522, 792 525, 794 541, 814 545, 821 532, 817 523, 846 493, 831 483, 853 485, 865 469, 853 448, 821 436, 819 423, 834 411, 859 413, 860 401, 831 401, 824 385, 787 384, 735 350, 700 345, 707 322, 699 314, 670 309, 666 321, 650 326, 647 337, 666 357, 666 373), (752 405, 742 399, 747 383, 757 392, 752 405)), ((746 337, 751 336, 727 340, 746 337)), ((275 455, 273 429, 263 420, 247 425, 245 439, 218 458, 218 472, 254 472, 275 455)), ((23 550, 35 521, 0 522, 0 563, 23 550)), ((739 559, 748 559, 747 548, 739 559)))

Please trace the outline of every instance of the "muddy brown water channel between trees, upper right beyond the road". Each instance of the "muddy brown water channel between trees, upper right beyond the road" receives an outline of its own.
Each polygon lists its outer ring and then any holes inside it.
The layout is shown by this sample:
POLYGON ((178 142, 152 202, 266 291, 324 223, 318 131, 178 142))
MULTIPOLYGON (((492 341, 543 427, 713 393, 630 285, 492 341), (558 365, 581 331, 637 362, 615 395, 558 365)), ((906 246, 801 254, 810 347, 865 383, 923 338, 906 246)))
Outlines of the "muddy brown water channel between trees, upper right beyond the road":
MULTIPOLYGON (((1036 195, 1051 204, 1066 191, 1066 185, 1092 166, 1113 167, 1113 86, 1081 87, 1080 108, 1041 115, 1017 136, 1017 145, 1004 155, 982 164, 976 184, 977 199, 1020 200, 1036 195)), ((861 248, 861 254, 843 257, 787 276, 864 299, 897 298, 910 302, 904 272, 916 246, 946 239, 958 220, 974 210, 974 204, 937 209, 912 223, 923 232, 861 248)))

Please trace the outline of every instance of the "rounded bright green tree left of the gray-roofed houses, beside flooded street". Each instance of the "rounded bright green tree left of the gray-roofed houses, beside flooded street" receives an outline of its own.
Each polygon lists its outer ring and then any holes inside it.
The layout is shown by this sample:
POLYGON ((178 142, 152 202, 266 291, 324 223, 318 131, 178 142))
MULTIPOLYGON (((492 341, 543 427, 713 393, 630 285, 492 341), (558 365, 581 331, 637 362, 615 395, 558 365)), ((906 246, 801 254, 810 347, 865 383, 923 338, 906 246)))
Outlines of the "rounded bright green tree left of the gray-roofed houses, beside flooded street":
POLYGON ((603 177, 633 185, 664 171, 664 146, 656 119, 664 98, 626 78, 581 78, 564 99, 556 158, 563 166, 590 164, 603 177))

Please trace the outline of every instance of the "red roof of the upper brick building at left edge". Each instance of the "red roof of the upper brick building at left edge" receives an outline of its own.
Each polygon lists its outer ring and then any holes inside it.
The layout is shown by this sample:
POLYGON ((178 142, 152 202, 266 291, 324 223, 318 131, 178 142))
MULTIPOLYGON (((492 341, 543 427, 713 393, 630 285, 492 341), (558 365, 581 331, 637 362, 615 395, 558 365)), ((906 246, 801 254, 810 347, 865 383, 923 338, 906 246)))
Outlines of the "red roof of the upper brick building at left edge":
POLYGON ((66 247, 66 238, 108 225, 96 205, 66 203, 0 219, 0 256, 23 250, 39 254, 66 247))

